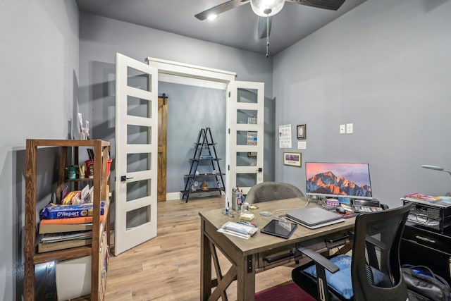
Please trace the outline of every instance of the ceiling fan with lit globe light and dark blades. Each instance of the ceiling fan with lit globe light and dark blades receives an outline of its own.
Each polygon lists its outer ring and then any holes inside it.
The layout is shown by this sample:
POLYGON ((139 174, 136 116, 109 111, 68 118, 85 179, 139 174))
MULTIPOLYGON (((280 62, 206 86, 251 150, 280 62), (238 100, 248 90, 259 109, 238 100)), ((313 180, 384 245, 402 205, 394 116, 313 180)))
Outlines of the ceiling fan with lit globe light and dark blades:
POLYGON ((285 2, 337 11, 345 0, 231 0, 202 11, 202 13, 198 13, 194 17, 199 20, 214 18, 220 13, 225 13, 226 11, 230 11, 230 9, 248 4, 249 2, 251 3, 252 11, 259 16, 257 37, 263 39, 264 37, 268 37, 271 32, 271 17, 282 10, 285 2))

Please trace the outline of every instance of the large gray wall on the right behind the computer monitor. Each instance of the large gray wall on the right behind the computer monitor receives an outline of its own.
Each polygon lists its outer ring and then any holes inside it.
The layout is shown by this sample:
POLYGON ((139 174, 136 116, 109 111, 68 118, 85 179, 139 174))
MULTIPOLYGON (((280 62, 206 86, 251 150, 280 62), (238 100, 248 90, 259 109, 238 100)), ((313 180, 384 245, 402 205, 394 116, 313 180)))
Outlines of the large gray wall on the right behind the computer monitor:
MULTIPOLYGON (((302 163, 368 162, 373 196, 391 206, 450 191, 449 175, 420 167, 451 168, 450 16, 451 1, 369 0, 278 54, 276 126, 307 124, 302 163)), ((276 180, 305 191, 304 168, 282 152, 276 180)))

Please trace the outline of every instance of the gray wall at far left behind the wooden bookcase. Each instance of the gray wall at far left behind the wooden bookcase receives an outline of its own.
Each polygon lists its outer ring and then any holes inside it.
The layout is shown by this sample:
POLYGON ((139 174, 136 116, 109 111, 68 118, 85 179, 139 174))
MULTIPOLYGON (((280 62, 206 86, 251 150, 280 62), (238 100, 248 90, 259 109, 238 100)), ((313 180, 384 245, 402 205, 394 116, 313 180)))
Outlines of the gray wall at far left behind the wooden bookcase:
MULTIPOLYGON (((21 300, 25 140, 68 137, 78 94, 77 4, 0 1, 0 40, 0 300, 21 300)), ((46 149, 38 155, 37 195, 47 204, 55 158, 46 149)))

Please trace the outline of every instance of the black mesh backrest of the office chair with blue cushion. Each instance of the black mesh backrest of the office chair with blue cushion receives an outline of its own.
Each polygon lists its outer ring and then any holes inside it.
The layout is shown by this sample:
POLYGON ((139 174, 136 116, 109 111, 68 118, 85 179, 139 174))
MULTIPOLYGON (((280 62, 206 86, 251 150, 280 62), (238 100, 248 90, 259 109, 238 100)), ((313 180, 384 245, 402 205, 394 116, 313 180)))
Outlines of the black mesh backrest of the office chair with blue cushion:
POLYGON ((399 251, 410 206, 357 216, 351 263, 354 300, 407 300, 399 251))

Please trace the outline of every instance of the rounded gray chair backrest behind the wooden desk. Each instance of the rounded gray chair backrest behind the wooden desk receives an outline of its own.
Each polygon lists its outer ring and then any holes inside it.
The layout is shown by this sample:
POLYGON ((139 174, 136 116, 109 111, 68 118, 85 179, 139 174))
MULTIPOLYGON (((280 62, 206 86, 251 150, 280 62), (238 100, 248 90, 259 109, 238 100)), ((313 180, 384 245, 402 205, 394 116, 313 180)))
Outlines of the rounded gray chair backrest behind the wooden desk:
POLYGON ((303 196, 302 191, 295 185, 278 182, 261 182, 252 186, 246 195, 245 201, 252 204, 303 196))

